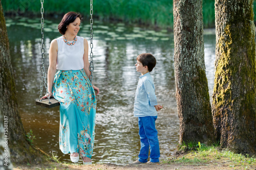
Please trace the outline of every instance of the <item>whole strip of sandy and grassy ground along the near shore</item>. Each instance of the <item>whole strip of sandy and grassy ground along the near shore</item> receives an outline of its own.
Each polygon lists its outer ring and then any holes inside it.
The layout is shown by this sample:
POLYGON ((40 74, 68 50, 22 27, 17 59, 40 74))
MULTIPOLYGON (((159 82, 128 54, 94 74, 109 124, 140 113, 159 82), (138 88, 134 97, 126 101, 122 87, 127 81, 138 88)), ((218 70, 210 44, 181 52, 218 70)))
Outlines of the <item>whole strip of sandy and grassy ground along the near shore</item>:
MULTIPOLYGON (((234 154, 222 150, 219 146, 206 147, 204 144, 191 144, 181 146, 186 154, 161 160, 157 164, 116 165, 116 164, 70 164, 65 162, 49 162, 37 165, 16 165, 17 169, 256 169, 256 158, 234 154), (189 151, 188 151, 189 150, 189 151)), ((53 155, 54 157, 54 155, 53 155)), ((131 163, 131 162, 127 162, 131 163)))

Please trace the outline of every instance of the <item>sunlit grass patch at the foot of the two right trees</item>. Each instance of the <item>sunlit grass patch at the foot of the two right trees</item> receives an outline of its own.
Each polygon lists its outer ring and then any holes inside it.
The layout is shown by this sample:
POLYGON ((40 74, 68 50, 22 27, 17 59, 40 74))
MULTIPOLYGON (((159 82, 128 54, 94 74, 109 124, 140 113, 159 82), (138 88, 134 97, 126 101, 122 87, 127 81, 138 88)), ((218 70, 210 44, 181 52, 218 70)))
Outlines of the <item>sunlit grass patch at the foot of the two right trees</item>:
POLYGON ((202 143, 188 142, 187 144, 182 144, 181 149, 189 149, 187 154, 173 157, 166 160, 163 160, 163 163, 183 163, 183 164, 219 164, 220 162, 227 163, 230 168, 237 169, 247 169, 247 168, 256 168, 256 157, 249 157, 248 155, 235 154, 227 149, 221 149, 217 144, 214 144, 210 147, 202 143))

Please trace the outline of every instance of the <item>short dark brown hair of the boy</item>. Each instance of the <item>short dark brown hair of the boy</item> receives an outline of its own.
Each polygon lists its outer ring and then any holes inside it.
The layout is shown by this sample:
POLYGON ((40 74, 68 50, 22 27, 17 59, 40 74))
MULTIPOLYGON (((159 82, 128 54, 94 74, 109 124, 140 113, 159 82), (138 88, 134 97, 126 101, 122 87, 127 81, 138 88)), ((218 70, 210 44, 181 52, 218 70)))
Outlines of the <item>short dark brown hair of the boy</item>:
POLYGON ((156 66, 156 58, 150 53, 142 53, 138 55, 137 60, 141 62, 143 66, 147 66, 148 71, 152 71, 153 68, 156 66))

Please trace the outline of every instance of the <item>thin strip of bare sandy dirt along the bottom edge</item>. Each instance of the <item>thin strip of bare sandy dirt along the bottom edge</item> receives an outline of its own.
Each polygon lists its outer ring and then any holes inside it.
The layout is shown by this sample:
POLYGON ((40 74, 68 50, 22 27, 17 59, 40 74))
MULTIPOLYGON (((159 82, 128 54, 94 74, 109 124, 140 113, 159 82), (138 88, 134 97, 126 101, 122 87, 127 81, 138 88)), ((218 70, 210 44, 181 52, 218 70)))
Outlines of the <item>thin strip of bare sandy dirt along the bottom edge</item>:
POLYGON ((182 169, 182 170, 189 170, 189 169, 253 169, 256 170, 256 167, 252 166, 236 166, 230 165, 230 162, 225 161, 211 161, 205 164, 178 164, 178 163, 159 163, 159 164, 141 164, 141 165, 115 165, 115 164, 92 164, 92 165, 81 165, 81 164, 65 164, 65 163, 47 163, 47 164, 38 164, 38 165, 23 165, 23 166, 14 166, 14 170, 20 169, 70 169, 70 170, 81 170, 81 169, 88 169, 88 170, 118 170, 118 169, 125 169, 125 170, 138 170, 138 169, 156 169, 156 170, 165 170, 165 169, 182 169))

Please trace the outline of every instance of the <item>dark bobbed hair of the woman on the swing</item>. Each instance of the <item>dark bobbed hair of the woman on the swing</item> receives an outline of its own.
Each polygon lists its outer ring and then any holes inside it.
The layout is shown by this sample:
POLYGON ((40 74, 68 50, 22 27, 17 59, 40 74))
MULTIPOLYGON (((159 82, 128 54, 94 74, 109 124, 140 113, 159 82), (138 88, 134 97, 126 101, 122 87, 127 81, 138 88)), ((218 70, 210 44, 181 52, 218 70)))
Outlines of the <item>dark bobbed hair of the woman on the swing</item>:
POLYGON ((74 22, 77 17, 80 18, 80 20, 82 20, 82 16, 79 13, 68 12, 67 14, 65 14, 58 25, 59 33, 64 35, 67 31, 67 26, 71 22, 74 22))

